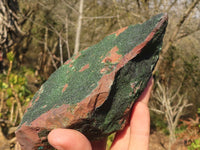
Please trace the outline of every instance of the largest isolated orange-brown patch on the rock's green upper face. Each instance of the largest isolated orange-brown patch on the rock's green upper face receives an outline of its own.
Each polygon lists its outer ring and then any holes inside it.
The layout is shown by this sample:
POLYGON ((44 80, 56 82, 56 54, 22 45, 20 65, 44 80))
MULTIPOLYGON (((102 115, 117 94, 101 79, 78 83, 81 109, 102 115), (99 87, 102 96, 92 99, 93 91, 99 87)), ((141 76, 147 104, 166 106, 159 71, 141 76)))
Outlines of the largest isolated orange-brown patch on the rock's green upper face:
POLYGON ((121 58, 122 55, 117 54, 117 51, 119 50, 119 48, 117 46, 113 47, 107 54, 107 56, 102 60, 102 63, 118 63, 121 58))

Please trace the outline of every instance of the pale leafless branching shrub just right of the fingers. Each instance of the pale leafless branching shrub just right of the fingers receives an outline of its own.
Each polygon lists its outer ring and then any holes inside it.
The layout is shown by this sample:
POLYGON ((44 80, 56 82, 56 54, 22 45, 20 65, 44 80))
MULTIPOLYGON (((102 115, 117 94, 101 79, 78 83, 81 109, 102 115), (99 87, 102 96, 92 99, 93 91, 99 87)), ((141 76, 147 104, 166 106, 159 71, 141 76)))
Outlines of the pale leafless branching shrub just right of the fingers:
POLYGON ((167 88, 160 82, 157 82, 157 86, 158 89, 153 95, 155 101, 151 104, 150 110, 165 116, 170 133, 170 149, 171 144, 175 141, 175 130, 178 125, 178 121, 183 115, 184 109, 192 106, 192 104, 189 104, 187 99, 185 99, 186 95, 180 95, 182 83, 176 91, 167 88))

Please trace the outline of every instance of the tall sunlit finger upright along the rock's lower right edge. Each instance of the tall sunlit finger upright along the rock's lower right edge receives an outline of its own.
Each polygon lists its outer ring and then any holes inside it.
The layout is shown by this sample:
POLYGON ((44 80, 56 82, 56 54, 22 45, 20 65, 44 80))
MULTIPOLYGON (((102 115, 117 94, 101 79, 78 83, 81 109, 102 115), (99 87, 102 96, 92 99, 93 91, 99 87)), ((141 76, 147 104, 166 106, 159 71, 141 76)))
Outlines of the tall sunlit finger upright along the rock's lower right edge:
POLYGON ((129 149, 147 150, 149 147, 150 114, 147 104, 152 86, 153 79, 151 78, 146 89, 133 107, 130 120, 129 149))

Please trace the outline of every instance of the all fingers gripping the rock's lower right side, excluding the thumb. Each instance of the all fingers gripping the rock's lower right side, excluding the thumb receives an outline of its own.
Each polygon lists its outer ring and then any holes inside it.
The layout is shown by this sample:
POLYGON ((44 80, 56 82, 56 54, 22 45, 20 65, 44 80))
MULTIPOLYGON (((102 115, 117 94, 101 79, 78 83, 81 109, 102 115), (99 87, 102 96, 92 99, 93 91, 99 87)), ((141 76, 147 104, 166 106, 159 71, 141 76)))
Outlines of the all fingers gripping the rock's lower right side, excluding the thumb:
POLYGON ((111 150, 122 150, 122 149, 146 150, 148 148, 147 146, 148 146, 148 141, 149 141, 148 136, 149 136, 149 130, 150 130, 149 129, 150 117, 149 117, 149 110, 148 110, 147 104, 149 101, 152 87, 153 87, 153 78, 149 80, 147 87, 145 88, 144 92, 137 100, 137 103, 134 105, 134 108, 131 114, 132 117, 131 117, 130 125, 127 125, 124 130, 116 134, 111 150), (134 134, 136 135, 134 136, 134 134), (138 145, 136 145, 138 140, 146 140, 146 142, 140 141, 138 145), (140 148, 136 146, 142 146, 142 147, 140 148))

